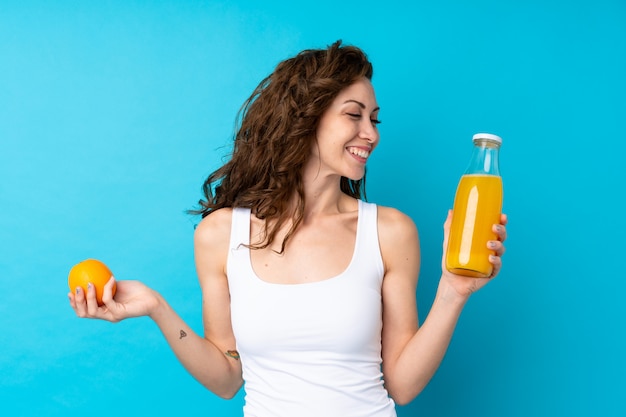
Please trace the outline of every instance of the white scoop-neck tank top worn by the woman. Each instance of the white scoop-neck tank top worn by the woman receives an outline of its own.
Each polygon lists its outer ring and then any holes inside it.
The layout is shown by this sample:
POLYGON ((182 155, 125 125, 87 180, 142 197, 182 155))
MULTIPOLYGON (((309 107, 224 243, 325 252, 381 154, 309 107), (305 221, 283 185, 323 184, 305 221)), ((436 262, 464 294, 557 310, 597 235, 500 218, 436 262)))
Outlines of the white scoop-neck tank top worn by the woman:
POLYGON ((245 417, 395 417, 383 386, 383 262, 376 205, 359 200, 352 260, 339 275, 273 284, 254 272, 250 210, 233 209, 227 272, 245 417))

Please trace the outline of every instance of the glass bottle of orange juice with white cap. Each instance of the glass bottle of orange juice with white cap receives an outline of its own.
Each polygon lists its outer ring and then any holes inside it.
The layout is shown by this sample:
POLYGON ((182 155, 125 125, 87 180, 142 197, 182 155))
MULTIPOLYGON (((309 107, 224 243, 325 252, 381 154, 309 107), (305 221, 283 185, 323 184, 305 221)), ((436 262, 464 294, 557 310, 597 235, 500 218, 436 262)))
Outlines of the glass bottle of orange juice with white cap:
POLYGON ((500 223, 502 212, 502 178, 498 167, 502 139, 478 133, 473 142, 470 164, 454 197, 446 268, 454 274, 481 278, 490 276, 493 270, 489 255, 494 252, 487 248, 487 242, 497 239, 492 227, 500 223))

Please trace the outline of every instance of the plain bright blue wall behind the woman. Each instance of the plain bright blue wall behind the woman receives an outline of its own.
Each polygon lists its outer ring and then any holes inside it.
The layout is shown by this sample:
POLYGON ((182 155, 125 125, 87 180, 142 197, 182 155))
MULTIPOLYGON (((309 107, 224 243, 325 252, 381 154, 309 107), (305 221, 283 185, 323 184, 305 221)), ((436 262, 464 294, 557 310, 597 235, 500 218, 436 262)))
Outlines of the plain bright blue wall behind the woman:
POLYGON ((626 3, 0 1, 0 414, 241 415, 141 318, 79 320, 85 258, 201 332, 205 176, 282 59, 336 39, 375 65, 368 198, 416 222, 420 319, 471 136, 503 137, 505 268, 400 416, 626 415, 626 3))

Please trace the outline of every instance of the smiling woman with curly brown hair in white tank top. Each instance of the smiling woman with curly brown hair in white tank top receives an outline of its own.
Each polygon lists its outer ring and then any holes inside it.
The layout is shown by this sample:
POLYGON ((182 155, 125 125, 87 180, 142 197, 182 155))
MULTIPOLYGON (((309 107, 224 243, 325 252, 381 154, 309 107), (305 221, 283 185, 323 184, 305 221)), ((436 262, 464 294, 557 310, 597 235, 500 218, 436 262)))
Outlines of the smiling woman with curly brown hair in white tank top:
MULTIPOLYGON (((79 317, 149 316, 215 394, 245 381, 246 417, 395 416, 438 368, 470 294, 443 268, 418 329, 418 233, 362 197, 380 136, 372 65, 336 42, 281 62, 241 111, 232 158, 204 184, 195 232, 204 334, 137 281, 70 293, 79 317)), ((450 213, 444 224, 444 252, 450 213)), ((494 225, 494 274, 506 217, 494 225)), ((444 257, 445 259, 445 253, 444 257)))

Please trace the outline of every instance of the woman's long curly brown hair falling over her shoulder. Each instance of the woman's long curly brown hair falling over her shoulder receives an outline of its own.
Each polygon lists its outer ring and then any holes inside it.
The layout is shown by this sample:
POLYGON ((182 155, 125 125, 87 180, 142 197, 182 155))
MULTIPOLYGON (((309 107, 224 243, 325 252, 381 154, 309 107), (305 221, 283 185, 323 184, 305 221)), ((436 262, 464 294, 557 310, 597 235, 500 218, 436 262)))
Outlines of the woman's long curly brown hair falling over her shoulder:
MULTIPOLYGON (((265 220, 263 242, 250 246, 257 249, 272 244, 291 219, 282 253, 304 215, 302 171, 322 114, 340 91, 372 76, 367 55, 341 40, 280 62, 239 110, 231 159, 208 176, 200 208, 191 212, 205 217, 224 207, 251 208, 265 220)), ((342 177, 340 184, 344 193, 365 198, 365 175, 342 177)))

